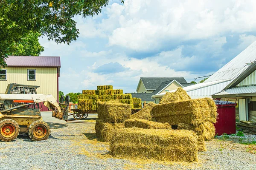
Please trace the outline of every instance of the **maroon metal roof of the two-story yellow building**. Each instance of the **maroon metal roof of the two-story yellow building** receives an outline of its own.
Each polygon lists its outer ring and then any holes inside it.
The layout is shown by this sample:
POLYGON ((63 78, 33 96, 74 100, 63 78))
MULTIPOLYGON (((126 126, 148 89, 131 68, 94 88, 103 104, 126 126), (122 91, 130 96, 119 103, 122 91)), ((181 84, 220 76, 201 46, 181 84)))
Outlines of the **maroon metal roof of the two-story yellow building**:
POLYGON ((61 67, 60 57, 8 56, 7 67, 61 67))

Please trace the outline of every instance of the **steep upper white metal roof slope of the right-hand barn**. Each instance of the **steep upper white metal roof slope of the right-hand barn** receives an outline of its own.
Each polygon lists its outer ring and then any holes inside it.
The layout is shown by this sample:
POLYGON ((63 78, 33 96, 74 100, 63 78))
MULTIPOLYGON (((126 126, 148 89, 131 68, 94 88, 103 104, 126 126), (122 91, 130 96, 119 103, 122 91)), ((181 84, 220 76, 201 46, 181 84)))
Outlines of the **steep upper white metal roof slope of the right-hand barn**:
POLYGON ((246 63, 256 60, 256 41, 253 42, 249 47, 245 48, 240 54, 233 58, 230 62, 219 69, 205 82, 211 82, 221 79, 234 79, 241 74, 250 65, 246 63))

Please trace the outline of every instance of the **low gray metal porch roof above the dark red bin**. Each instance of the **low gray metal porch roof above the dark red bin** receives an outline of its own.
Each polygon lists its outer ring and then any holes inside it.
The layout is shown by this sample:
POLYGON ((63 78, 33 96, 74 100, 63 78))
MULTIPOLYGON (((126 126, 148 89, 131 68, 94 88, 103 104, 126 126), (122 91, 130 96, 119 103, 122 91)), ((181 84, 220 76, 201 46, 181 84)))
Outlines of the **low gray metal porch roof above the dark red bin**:
POLYGON ((256 93, 256 85, 229 88, 215 95, 217 96, 217 95, 227 95, 227 94, 249 94, 249 93, 256 93))

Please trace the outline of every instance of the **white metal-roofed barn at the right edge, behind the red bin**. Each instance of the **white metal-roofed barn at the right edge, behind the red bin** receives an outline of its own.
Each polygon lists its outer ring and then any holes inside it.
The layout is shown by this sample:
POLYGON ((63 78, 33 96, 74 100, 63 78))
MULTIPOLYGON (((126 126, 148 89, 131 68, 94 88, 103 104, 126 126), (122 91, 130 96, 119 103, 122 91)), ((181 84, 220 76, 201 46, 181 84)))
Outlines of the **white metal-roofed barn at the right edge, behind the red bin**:
MULTIPOLYGON (((221 98, 237 101, 237 121, 250 120, 256 122, 255 61, 256 42, 253 42, 205 82, 184 87, 183 89, 192 99, 212 97, 214 99, 221 98)), ((165 92, 152 97, 159 98, 164 94, 165 92)))

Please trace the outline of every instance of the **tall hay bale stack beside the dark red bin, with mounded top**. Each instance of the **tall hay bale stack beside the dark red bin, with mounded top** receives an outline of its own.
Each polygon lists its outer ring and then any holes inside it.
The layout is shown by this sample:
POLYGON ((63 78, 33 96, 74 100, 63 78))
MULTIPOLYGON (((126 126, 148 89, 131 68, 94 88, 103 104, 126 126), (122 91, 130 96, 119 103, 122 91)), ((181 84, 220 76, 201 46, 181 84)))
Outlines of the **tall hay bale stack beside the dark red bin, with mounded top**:
POLYGON ((210 140, 215 136, 213 125, 217 118, 215 102, 210 98, 190 99, 183 89, 175 93, 163 96, 162 104, 152 109, 152 116, 156 122, 167 122, 177 129, 193 130, 198 135, 198 150, 205 151, 204 140, 210 140), (173 102, 175 99, 177 102, 173 102), (183 99, 188 100, 182 101, 183 99))

